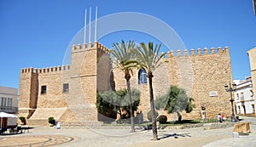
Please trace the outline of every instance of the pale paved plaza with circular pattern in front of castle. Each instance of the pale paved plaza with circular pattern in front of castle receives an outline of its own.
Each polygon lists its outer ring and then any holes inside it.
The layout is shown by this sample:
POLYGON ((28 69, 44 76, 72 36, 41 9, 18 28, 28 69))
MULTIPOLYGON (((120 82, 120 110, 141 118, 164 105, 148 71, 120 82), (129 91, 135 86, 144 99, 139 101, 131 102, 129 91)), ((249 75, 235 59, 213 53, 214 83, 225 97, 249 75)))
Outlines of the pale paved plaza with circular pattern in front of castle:
POLYGON ((190 129, 160 129, 158 141, 152 141, 152 131, 137 130, 130 133, 129 129, 56 129, 55 127, 32 127, 29 132, 6 134, 0 136, 0 147, 216 147, 256 146, 256 118, 242 117, 250 124, 251 132, 247 136, 233 138, 233 127, 204 130, 204 127, 190 129))

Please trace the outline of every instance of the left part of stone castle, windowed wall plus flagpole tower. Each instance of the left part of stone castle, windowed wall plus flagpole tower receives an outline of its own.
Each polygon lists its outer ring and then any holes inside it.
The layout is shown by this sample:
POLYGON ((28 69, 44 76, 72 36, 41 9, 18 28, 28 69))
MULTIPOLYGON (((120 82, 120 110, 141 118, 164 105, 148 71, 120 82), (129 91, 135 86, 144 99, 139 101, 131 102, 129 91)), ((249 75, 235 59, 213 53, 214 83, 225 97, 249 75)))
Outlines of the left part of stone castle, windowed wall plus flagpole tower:
POLYGON ((49 116, 54 116, 61 122, 97 121, 95 105, 97 84, 101 82, 100 88, 108 89, 109 80, 105 82, 107 76, 102 73, 110 71, 108 69, 110 64, 109 61, 104 61, 101 64, 102 67, 97 65, 99 57, 108 56, 106 47, 98 42, 94 43, 94 46, 91 43, 88 45, 88 47, 87 44, 73 46, 70 66, 21 69, 19 108, 33 111, 29 114, 28 112, 20 113, 20 116, 26 116, 32 124, 42 122, 49 116), (32 78, 32 75, 35 78, 32 78), (63 93, 64 83, 68 83, 68 93, 63 93), (41 87, 44 85, 47 90, 42 94, 41 87))

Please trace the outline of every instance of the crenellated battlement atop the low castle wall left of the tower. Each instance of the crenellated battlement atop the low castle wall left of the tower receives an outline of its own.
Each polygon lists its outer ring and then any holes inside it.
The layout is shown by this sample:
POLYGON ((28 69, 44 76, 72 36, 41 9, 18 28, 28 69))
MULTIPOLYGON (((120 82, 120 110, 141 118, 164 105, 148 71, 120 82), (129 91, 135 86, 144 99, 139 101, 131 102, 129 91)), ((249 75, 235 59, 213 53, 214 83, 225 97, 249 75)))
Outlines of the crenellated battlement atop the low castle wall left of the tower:
POLYGON ((23 68, 20 70, 21 73, 48 73, 48 72, 55 72, 55 71, 67 71, 70 69, 69 65, 59 65, 59 66, 54 66, 54 67, 47 67, 47 68, 23 68))

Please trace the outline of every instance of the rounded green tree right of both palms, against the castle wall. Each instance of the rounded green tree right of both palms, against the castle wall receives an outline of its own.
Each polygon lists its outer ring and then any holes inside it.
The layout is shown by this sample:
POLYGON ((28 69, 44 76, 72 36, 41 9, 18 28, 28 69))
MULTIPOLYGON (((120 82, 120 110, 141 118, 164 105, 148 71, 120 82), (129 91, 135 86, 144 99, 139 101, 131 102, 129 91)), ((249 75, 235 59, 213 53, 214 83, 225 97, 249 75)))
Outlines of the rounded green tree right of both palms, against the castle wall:
POLYGON ((155 101, 155 107, 157 110, 164 109, 167 113, 177 113, 177 119, 179 122, 182 120, 181 112, 183 110, 189 113, 195 108, 192 104, 194 99, 190 98, 183 88, 177 88, 177 86, 171 86, 166 95, 161 96, 155 101))

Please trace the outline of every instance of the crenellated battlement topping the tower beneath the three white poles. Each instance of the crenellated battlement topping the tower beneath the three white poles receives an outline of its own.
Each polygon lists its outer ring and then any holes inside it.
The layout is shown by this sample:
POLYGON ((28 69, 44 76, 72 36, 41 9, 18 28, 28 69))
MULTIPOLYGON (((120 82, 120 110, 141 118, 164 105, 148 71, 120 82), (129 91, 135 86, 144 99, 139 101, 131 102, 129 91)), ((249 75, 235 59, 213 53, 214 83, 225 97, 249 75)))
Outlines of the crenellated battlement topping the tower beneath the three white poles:
POLYGON ((85 49, 95 49, 95 48, 99 48, 104 53, 106 53, 106 52, 109 53, 108 48, 105 47, 104 45, 102 45, 102 43, 100 43, 100 42, 94 42, 93 44, 90 42, 89 44, 85 43, 85 44, 73 45, 72 53, 84 51, 85 49))

